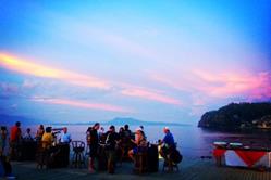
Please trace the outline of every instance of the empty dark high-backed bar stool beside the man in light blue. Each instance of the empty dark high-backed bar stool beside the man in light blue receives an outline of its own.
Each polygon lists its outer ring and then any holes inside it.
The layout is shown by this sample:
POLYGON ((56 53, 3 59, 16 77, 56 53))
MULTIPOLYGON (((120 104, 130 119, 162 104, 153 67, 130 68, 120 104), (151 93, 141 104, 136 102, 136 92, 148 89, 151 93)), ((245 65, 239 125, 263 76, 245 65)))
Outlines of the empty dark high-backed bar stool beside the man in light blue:
POLYGON ((74 167, 82 167, 85 166, 85 142, 83 141, 72 141, 72 147, 73 147, 73 157, 72 157, 72 165, 74 167))

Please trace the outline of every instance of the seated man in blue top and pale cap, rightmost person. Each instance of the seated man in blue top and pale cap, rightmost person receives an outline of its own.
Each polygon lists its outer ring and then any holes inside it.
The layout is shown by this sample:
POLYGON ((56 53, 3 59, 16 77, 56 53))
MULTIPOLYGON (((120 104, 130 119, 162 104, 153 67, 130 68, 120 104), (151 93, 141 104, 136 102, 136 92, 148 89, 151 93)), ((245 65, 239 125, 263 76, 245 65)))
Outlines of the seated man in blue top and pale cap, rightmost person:
POLYGON ((165 159, 169 160, 168 155, 174 150, 175 142, 172 133, 170 132, 169 127, 163 128, 163 132, 165 133, 163 140, 160 141, 160 144, 162 144, 162 147, 160 149, 159 153, 160 155, 165 159))

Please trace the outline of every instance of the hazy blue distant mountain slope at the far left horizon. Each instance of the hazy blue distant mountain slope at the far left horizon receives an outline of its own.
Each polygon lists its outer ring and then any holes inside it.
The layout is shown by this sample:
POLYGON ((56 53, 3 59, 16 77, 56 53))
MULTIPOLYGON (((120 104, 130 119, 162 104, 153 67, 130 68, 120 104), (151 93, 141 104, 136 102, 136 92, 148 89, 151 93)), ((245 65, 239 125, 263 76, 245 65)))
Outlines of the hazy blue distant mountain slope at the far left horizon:
POLYGON ((42 124, 41 120, 32 119, 24 116, 12 116, 12 115, 0 114, 0 126, 14 125, 16 121, 21 121, 23 125, 42 124))

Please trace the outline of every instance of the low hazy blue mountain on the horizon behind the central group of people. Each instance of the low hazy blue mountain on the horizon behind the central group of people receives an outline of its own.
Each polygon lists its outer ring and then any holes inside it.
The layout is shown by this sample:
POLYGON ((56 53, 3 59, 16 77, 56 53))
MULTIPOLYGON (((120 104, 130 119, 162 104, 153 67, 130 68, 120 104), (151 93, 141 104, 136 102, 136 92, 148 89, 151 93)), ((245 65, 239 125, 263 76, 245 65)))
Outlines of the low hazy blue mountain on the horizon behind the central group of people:
POLYGON ((116 117, 112 120, 106 123, 106 125, 132 125, 132 126, 140 126, 140 125, 157 125, 157 126, 189 126, 185 124, 177 124, 177 123, 160 123, 160 121, 144 121, 138 120, 132 117, 116 117))

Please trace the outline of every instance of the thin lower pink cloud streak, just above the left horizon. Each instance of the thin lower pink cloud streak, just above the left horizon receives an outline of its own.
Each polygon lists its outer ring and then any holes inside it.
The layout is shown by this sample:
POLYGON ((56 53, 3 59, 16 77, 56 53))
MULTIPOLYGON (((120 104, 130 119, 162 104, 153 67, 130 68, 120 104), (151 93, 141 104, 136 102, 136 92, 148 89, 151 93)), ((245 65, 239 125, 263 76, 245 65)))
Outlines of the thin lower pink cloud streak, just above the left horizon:
POLYGON ((69 105, 81 108, 89 108, 89 110, 100 110, 100 111, 109 111, 109 112, 118 112, 118 113, 132 113, 132 111, 123 108, 121 106, 115 106, 111 104, 99 104, 99 103, 89 103, 83 101, 74 101, 66 99, 42 99, 42 98, 33 98, 32 101, 41 102, 47 104, 59 104, 59 105, 69 105))

